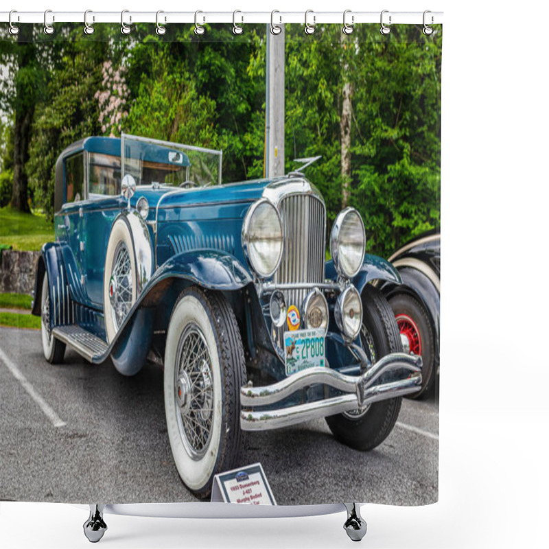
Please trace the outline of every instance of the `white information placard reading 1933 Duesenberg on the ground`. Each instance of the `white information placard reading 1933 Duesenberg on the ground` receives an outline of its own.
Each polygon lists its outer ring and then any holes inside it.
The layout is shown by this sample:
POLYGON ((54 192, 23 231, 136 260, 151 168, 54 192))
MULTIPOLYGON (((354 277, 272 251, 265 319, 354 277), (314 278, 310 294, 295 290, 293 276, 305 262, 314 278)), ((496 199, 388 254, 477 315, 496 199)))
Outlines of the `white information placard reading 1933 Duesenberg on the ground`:
POLYGON ((276 505, 261 463, 215 475, 212 502, 276 505))

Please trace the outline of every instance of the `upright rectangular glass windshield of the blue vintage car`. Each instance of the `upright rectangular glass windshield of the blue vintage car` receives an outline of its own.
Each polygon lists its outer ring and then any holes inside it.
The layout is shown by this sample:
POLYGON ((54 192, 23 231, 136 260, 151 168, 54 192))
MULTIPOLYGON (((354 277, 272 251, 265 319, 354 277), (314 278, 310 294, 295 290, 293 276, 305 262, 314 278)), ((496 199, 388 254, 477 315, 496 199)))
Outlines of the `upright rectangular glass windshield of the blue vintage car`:
POLYGON ((221 183, 222 151, 122 134, 121 165, 137 185, 204 187, 221 183))

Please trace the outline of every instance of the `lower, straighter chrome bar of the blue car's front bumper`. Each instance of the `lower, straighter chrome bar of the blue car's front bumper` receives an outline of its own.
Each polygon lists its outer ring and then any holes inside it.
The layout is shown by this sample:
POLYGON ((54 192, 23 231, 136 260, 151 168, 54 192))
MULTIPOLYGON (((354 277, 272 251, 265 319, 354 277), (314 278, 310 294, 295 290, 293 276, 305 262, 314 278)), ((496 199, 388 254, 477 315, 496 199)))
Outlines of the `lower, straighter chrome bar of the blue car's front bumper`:
POLYGON ((281 410, 265 410, 253 412, 242 410, 240 412, 240 428, 243 431, 270 430, 287 427, 295 423, 326 417, 357 410, 360 406, 367 406, 379 400, 395 397, 404 397, 415 393, 421 385, 421 374, 415 374, 407 379, 390 382, 382 386, 375 386, 366 390, 362 403, 359 404, 357 395, 342 395, 320 401, 309 402, 282 408, 281 410))

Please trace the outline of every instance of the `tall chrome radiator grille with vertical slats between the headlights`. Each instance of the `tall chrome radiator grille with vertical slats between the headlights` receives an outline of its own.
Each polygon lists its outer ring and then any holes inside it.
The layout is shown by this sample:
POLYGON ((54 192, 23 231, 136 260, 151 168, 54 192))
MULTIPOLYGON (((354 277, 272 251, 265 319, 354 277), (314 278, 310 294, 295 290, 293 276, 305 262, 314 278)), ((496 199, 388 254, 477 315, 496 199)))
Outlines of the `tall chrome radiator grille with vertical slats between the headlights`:
MULTIPOLYGON (((326 208, 310 194, 295 194, 279 202, 284 231, 284 251, 276 284, 321 283, 324 281, 326 208)), ((286 305, 296 305, 301 314, 306 288, 283 290, 286 305)))

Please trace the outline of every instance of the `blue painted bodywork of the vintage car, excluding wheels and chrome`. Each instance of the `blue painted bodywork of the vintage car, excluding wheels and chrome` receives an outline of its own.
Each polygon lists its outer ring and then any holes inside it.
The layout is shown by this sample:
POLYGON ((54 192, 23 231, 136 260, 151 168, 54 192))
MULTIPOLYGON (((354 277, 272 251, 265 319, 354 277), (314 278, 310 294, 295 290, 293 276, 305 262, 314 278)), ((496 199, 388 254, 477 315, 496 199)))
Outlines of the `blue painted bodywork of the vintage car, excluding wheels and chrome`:
MULTIPOLYGON (((119 155, 120 140, 92 137, 71 145, 60 156, 56 168, 64 182, 63 160, 79 151, 119 155)), ((165 148, 143 148, 143 158, 166 161, 165 148)), ((188 159, 187 159, 188 161, 188 159)), ((34 314, 40 314, 40 283, 49 274, 51 292, 57 292, 57 306, 64 316, 55 316, 51 327, 75 323, 106 341, 104 322, 104 265, 110 231, 124 209, 135 209, 146 198, 149 204, 145 219, 152 242, 154 272, 121 323, 101 362, 108 355, 126 375, 136 373, 146 353, 135 349, 149 347, 153 331, 165 333, 178 294, 188 285, 224 292, 243 330, 248 364, 259 364, 261 371, 273 379, 285 377, 281 350, 274 349, 270 337, 269 301, 257 293, 255 276, 244 257, 242 224, 250 205, 264 196, 268 185, 283 178, 251 180, 243 183, 180 189, 166 185, 138 186, 128 200, 122 196, 91 196, 78 202, 63 203, 55 217, 56 242, 43 248, 36 278, 34 314), (59 296, 57 287, 64 288, 59 296), (61 318, 61 322, 59 320, 61 318)), ((65 183, 62 196, 65 199, 65 183)), ((332 261, 325 264, 326 279, 338 275, 332 261)), ((365 255, 364 263, 352 283, 362 292, 374 279, 393 284, 400 277, 388 261, 365 255)), ((340 336, 334 319, 335 298, 329 297, 329 328, 326 336, 326 359, 333 369, 358 373, 359 365, 340 336)), ((318 396, 318 395, 317 395, 318 396)), ((319 395, 318 397, 322 397, 319 395)))

